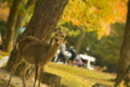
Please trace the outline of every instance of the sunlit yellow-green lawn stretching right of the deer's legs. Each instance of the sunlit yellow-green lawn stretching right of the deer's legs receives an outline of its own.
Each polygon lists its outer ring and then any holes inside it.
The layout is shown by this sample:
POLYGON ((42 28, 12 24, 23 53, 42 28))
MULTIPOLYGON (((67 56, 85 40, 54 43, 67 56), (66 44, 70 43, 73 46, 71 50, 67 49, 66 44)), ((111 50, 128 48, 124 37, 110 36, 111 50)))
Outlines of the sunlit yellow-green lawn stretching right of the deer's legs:
POLYGON ((116 77, 109 73, 56 63, 49 63, 46 66, 46 72, 61 76, 61 84, 68 87, 92 87, 95 83, 113 86, 114 83, 110 79, 116 77))

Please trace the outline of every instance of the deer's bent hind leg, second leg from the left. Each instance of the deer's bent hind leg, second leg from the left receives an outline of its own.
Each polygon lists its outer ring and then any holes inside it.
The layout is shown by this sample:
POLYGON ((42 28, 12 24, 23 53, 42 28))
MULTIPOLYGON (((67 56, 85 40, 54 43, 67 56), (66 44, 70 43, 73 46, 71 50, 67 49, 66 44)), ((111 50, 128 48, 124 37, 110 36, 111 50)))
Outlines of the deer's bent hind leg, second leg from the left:
POLYGON ((29 69, 29 66, 30 66, 30 64, 25 63, 25 65, 21 70, 21 77, 22 77, 23 86, 24 87, 26 87, 26 84, 25 84, 25 74, 26 74, 26 71, 29 69))

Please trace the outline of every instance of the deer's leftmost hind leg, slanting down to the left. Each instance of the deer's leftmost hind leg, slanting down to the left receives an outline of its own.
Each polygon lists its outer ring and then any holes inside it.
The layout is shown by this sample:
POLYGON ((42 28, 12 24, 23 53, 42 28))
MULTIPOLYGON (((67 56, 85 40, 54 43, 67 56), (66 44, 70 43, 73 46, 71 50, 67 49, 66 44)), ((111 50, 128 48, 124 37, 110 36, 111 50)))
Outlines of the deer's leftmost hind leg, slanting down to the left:
POLYGON ((11 70, 11 75, 10 75, 10 79, 9 79, 9 83, 8 83, 8 87, 9 87, 9 85, 10 85, 10 83, 11 83, 12 76, 13 76, 16 67, 17 67, 21 63, 22 63, 22 58, 17 57, 17 58, 16 58, 16 61, 15 61, 15 63, 14 63, 12 70, 11 70))

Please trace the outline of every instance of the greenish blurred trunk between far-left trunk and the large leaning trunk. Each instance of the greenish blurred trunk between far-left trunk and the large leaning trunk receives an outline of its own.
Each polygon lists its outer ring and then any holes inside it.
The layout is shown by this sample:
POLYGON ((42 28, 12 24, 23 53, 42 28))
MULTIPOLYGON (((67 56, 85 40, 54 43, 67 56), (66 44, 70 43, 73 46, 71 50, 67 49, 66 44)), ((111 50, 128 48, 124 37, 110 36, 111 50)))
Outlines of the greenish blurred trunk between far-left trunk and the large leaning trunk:
POLYGON ((13 37, 14 46, 16 44, 17 36, 20 34, 20 28, 26 23, 25 18, 27 17, 27 15, 30 15, 29 12, 32 13, 32 10, 30 10, 30 9, 32 9, 31 7, 35 5, 35 2, 36 2, 36 0, 28 0, 27 2, 23 1, 23 3, 21 3, 21 8, 18 10, 17 20, 16 20, 16 24, 15 24, 15 30, 14 30, 15 33, 14 33, 14 37, 13 37))

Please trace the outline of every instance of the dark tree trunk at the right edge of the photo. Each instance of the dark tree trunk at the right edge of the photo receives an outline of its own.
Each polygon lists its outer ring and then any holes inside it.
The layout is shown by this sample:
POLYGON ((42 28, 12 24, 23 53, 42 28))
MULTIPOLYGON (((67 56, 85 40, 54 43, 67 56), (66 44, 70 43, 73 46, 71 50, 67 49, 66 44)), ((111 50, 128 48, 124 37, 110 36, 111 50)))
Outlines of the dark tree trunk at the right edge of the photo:
MULTIPOLYGON (((130 65, 130 1, 128 3, 127 23, 118 64, 117 80, 120 80, 119 79, 120 76, 122 76, 122 74, 126 72, 129 65, 130 65)), ((127 75, 125 76, 125 83, 128 82, 130 82, 130 72, 128 72, 127 75)))

